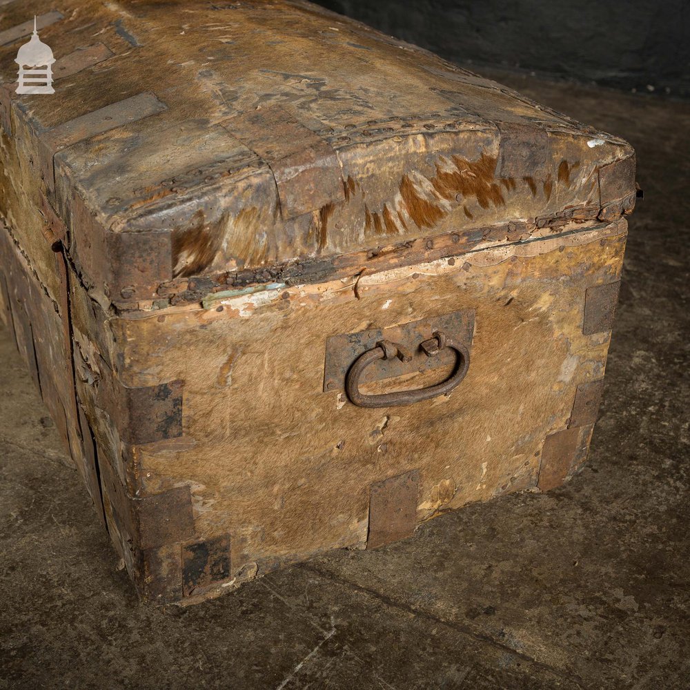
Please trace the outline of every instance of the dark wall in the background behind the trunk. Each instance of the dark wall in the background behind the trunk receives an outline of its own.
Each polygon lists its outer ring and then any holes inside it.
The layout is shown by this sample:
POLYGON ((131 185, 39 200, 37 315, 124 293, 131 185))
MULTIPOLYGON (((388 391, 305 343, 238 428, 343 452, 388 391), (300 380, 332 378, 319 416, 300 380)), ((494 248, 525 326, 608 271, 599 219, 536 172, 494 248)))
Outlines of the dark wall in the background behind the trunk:
POLYGON ((690 97, 690 0, 317 0, 457 63, 690 97))

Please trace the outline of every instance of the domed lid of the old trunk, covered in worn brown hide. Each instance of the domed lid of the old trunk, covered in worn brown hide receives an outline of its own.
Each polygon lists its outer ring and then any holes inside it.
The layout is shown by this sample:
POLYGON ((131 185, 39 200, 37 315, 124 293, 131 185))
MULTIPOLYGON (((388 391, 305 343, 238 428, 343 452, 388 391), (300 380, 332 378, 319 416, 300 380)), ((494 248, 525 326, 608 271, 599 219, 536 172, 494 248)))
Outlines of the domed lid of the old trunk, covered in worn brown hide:
MULTIPOLYGON (((28 37, 0 48, 3 122, 29 139, 37 187, 66 222, 86 284, 112 300, 123 288, 152 298, 175 277, 515 219, 592 218, 598 171, 632 155, 620 139, 310 3, 2 9, 0 32, 61 14, 40 31, 58 59, 55 95, 14 94, 28 37), (146 250, 110 237, 123 233, 146 250), (136 265, 152 251, 155 266, 136 265)), ((622 186, 634 192, 629 175, 622 186)), ((623 210, 614 204, 607 219, 623 210)))

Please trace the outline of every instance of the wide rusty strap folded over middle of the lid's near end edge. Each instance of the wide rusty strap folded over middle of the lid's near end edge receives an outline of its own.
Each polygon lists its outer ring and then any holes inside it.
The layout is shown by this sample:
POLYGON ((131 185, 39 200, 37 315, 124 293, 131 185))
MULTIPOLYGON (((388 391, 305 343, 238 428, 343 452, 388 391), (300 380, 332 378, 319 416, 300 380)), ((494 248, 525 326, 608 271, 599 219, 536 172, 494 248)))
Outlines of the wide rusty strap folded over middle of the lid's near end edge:
POLYGON ((266 106, 222 124, 270 167, 283 219, 344 200, 335 150, 284 108, 266 106))

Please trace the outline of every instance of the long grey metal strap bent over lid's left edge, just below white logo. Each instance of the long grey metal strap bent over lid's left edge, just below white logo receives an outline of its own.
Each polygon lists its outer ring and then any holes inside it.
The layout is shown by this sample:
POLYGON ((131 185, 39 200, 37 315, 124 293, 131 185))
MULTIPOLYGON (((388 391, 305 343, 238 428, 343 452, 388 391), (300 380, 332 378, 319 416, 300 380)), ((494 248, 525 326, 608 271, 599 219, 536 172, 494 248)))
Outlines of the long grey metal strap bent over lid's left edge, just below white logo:
POLYGON ((165 103, 159 101, 150 92, 111 103, 110 106, 88 112, 81 117, 68 120, 54 127, 39 137, 41 149, 41 167, 46 186, 52 192, 55 189, 55 168, 53 159, 55 154, 63 148, 77 144, 77 141, 95 137, 102 132, 121 127, 128 122, 134 122, 149 115, 156 115, 166 110, 165 103))

